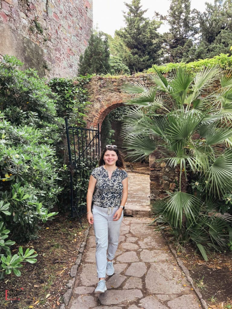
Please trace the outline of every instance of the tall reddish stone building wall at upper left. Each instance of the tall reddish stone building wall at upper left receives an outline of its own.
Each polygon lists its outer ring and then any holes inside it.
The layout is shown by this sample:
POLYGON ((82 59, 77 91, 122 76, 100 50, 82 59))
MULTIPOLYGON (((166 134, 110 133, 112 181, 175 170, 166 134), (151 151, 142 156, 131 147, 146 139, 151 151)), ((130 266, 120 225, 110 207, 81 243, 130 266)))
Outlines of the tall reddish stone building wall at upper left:
POLYGON ((40 76, 74 77, 92 28, 93 0, 0 0, 0 57, 40 76))

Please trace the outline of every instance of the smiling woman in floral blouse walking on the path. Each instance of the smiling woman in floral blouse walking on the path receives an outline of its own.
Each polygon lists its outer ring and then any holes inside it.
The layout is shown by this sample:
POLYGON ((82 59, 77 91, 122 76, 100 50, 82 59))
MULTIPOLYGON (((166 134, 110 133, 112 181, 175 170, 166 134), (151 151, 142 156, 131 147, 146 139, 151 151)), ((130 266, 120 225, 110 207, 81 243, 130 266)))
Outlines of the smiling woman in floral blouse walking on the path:
POLYGON ((128 178, 122 153, 115 145, 106 145, 92 171, 87 193, 87 219, 93 224, 96 240, 96 264, 99 282, 95 293, 104 293, 105 274, 114 274, 113 259, 118 248, 123 209, 127 201, 128 178), (95 194, 94 189, 96 189, 95 194), (91 211, 91 204, 93 208, 91 211))

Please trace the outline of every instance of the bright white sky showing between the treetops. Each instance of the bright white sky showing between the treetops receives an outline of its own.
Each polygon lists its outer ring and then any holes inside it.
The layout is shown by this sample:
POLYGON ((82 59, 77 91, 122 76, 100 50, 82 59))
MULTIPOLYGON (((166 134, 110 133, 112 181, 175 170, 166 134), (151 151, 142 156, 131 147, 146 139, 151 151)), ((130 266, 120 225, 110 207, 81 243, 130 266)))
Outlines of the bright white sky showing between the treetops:
MULTIPOLYGON (((123 13, 127 11, 127 7, 124 2, 131 3, 131 0, 93 0, 93 27, 114 36, 114 31, 124 27, 123 13)), ((213 3, 214 0, 207 0, 207 2, 213 3)), ((165 15, 170 6, 170 0, 141 0, 142 9, 148 9, 144 14, 145 17, 152 19, 154 11, 165 15)), ((204 0, 192 0, 191 8, 195 8, 199 11, 204 11, 204 0)), ((163 33, 168 31, 168 25, 161 25, 158 29, 163 33)))

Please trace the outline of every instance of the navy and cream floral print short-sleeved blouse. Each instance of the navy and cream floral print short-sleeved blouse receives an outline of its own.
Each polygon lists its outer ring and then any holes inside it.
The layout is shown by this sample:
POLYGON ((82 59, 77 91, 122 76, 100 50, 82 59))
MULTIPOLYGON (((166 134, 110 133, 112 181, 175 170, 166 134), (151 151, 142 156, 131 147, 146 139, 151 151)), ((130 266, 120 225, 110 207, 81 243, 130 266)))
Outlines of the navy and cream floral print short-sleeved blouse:
POLYGON ((103 208, 119 207, 122 200, 122 180, 127 178, 127 172, 117 167, 109 178, 108 171, 102 165, 95 168, 91 175, 97 179, 94 204, 103 208))

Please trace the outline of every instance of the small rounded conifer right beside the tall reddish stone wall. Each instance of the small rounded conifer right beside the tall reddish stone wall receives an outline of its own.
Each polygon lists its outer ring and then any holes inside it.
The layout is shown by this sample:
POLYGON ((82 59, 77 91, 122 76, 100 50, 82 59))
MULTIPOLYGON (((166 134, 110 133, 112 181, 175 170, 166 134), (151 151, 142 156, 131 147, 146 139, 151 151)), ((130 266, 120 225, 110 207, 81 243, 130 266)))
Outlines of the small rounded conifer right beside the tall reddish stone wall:
POLYGON ((84 55, 79 58, 79 70, 81 75, 101 74, 110 72, 110 52, 107 37, 103 32, 94 32, 88 41, 84 55))

